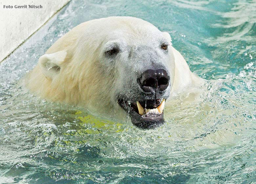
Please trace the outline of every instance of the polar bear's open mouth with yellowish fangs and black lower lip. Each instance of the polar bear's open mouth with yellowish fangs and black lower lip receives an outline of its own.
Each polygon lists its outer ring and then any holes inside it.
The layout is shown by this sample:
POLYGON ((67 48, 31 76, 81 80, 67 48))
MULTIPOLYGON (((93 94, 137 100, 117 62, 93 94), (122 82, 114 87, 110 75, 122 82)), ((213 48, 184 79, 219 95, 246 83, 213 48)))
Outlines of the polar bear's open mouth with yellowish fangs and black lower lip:
POLYGON ((118 104, 129 112, 132 123, 140 128, 156 128, 164 123, 163 109, 165 99, 136 102, 118 99, 118 104))

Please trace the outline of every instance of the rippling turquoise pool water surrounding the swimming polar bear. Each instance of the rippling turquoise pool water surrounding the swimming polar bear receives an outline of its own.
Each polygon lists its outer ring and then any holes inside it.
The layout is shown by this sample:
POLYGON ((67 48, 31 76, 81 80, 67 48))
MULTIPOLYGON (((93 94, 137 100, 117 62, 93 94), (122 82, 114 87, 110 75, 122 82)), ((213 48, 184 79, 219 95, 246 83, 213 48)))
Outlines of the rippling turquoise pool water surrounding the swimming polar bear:
POLYGON ((0 183, 256 183, 256 1, 72 1, 0 64, 0 183), (19 79, 79 23, 135 16, 208 80, 141 130, 38 99, 19 79), (68 109, 68 110, 67 110, 68 109))

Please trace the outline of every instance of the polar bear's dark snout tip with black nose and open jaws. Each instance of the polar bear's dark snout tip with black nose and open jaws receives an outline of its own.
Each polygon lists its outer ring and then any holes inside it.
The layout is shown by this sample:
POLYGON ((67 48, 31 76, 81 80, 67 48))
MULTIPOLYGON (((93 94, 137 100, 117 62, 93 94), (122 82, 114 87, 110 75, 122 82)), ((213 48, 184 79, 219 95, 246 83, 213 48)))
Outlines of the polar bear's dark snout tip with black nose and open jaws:
POLYGON ((164 123, 163 111, 171 81, 168 70, 163 68, 143 71, 137 78, 139 90, 131 88, 133 95, 127 93, 117 97, 117 103, 129 113, 132 123, 140 128, 156 128, 164 123))

